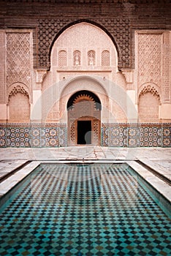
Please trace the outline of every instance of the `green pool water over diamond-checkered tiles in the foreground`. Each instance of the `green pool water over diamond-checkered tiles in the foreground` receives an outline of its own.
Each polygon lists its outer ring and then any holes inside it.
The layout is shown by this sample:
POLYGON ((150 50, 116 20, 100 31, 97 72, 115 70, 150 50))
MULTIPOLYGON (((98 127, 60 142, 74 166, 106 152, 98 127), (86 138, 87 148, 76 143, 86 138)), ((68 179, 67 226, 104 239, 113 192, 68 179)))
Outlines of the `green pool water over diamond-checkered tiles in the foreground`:
POLYGON ((0 211, 0 255, 171 255, 170 218, 126 165, 44 164, 0 211))

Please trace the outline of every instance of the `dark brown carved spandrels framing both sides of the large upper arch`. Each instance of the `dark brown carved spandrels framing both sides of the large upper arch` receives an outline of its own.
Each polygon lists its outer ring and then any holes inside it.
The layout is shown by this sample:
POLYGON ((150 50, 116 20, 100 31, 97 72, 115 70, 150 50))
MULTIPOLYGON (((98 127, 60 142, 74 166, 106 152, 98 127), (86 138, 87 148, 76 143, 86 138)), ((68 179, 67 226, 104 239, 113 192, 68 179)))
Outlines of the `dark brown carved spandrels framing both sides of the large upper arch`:
MULTIPOLYGON (((83 20, 85 21, 85 20, 83 20)), ((106 30, 118 50, 118 68, 131 67, 130 26, 128 18, 91 19, 106 30)), ((39 67, 50 69, 50 48, 57 34, 73 24, 74 19, 40 19, 38 26, 38 63, 39 67)))

